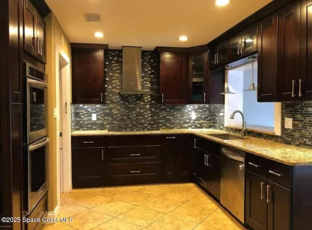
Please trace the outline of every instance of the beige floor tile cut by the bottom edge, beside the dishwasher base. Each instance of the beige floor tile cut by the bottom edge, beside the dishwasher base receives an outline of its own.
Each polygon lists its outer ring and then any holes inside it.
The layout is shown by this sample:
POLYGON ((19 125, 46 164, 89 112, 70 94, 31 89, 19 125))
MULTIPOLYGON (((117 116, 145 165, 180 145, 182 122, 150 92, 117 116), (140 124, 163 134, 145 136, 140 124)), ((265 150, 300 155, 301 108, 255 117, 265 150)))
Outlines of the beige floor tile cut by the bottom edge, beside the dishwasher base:
POLYGON ((244 228, 236 221, 230 214, 226 213, 222 209, 217 209, 207 219, 205 219, 202 225, 210 226, 215 229, 226 230, 243 230, 244 228))

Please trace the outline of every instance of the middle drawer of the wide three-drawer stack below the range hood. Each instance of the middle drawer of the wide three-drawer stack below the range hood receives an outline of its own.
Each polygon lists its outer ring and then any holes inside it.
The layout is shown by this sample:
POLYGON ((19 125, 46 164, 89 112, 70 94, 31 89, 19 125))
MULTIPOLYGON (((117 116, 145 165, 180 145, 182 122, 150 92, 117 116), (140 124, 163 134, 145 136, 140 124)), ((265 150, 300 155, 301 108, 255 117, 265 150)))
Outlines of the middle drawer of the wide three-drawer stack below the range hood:
POLYGON ((161 147, 119 147, 107 149, 108 163, 160 162, 161 147))

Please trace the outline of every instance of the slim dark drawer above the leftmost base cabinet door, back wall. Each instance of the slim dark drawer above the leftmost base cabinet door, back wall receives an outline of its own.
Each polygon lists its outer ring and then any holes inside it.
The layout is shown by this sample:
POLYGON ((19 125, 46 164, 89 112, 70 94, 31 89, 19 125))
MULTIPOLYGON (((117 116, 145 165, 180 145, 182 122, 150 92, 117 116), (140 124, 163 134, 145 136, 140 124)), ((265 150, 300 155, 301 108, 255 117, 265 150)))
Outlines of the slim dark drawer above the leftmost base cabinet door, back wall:
POLYGON ((105 147, 106 138, 101 136, 73 136, 73 148, 105 147))

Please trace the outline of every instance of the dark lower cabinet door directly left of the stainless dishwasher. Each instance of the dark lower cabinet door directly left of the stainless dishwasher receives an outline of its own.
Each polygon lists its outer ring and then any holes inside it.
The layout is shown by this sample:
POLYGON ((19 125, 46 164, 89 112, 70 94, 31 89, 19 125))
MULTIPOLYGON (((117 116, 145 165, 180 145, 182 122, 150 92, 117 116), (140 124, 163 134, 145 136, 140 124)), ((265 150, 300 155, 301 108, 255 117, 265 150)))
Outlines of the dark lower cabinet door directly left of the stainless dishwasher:
POLYGON ((208 191, 220 200, 220 157, 208 155, 208 191))

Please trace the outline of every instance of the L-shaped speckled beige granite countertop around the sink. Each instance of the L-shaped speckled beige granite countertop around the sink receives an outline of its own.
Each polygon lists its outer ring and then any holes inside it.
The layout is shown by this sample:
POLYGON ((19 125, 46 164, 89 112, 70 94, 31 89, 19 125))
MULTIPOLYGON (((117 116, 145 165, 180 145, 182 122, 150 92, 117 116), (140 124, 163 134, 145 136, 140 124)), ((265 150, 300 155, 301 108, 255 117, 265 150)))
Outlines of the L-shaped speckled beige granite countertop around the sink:
MULTIPOLYGON (((283 144, 256 137, 244 139, 222 140, 210 134, 228 134, 216 129, 164 129, 160 131, 108 132, 108 131, 75 131, 72 136, 102 135, 148 135, 148 134, 194 134, 220 144, 236 148, 248 153, 265 157, 289 166, 312 165, 312 149, 283 144)), ((237 135, 237 134, 231 134, 237 135)), ((239 136, 239 135, 237 135, 239 136)))

